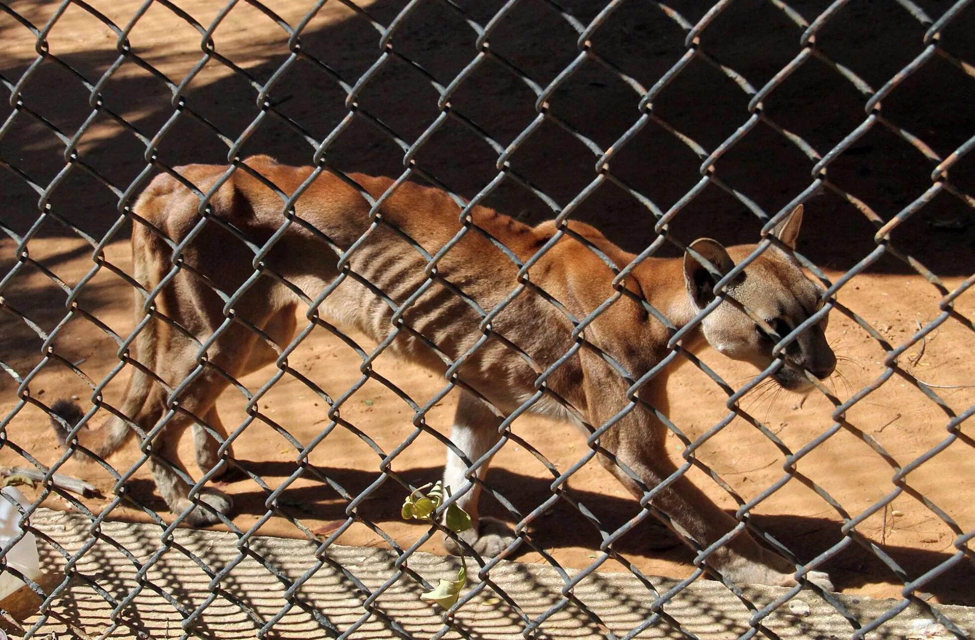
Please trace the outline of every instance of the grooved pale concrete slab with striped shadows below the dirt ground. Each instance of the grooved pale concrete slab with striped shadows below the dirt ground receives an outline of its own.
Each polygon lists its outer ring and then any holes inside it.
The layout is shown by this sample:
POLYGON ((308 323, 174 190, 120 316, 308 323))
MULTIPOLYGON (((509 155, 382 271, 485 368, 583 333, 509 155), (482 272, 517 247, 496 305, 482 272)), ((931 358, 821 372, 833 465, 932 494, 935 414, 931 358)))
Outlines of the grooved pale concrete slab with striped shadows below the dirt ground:
MULTIPOLYGON (((67 553, 77 552, 90 542, 91 523, 76 513, 48 509, 38 509, 31 521, 50 539, 41 543, 46 572, 42 584, 50 593, 64 581, 65 571, 64 557, 54 545, 67 553)), ((162 529, 155 525, 102 524, 98 542, 75 565, 77 577, 51 603, 48 619, 40 623, 35 637, 162 640, 188 632, 189 637, 223 640, 254 638, 264 627, 266 637, 282 639, 330 637, 352 630, 349 637, 364 639, 513 640, 525 637, 529 621, 543 619, 530 637, 622 638, 637 629, 630 637, 725 640, 747 633, 754 614, 722 584, 702 580, 687 585, 663 607, 670 620, 654 618, 654 594, 636 577, 618 573, 587 577, 572 589, 573 601, 563 597, 565 579, 552 567, 504 561, 491 570, 489 584, 469 584, 468 588, 481 590, 460 609, 451 628, 442 611, 420 600, 422 586, 407 572, 398 573, 396 554, 388 549, 331 546, 320 562, 316 545, 303 540, 254 538, 239 548, 233 534, 179 529, 167 549, 161 535, 162 529), (157 561, 140 574, 156 556, 157 561), (294 581, 319 566, 293 593, 288 591, 294 581), (213 575, 224 570, 225 575, 211 584, 213 575), (495 585, 514 606, 499 596, 495 585), (188 618, 192 622, 184 629, 188 618)), ((436 584, 440 578, 456 575, 458 565, 454 558, 415 553, 408 567, 436 584)), ((470 568, 469 573, 476 569, 470 568)), ((578 573, 567 571, 566 575, 578 573)), ((664 593, 679 581, 651 578, 650 582, 664 593)), ((753 586, 744 592, 761 609, 786 589, 753 586)), ((838 598, 861 623, 876 620, 898 604, 896 600, 838 598)), ((796 600, 800 602, 792 607, 783 604, 764 618, 765 630, 758 635, 826 639, 853 634, 851 622, 819 596, 803 591, 796 600)), ((5 601, 8 633, 22 636, 41 621, 36 613, 39 602, 33 593, 5 601)), ((938 609, 966 634, 975 630, 975 609, 945 605, 938 609)), ((868 637, 932 640, 956 636, 939 630, 912 606, 868 637)))

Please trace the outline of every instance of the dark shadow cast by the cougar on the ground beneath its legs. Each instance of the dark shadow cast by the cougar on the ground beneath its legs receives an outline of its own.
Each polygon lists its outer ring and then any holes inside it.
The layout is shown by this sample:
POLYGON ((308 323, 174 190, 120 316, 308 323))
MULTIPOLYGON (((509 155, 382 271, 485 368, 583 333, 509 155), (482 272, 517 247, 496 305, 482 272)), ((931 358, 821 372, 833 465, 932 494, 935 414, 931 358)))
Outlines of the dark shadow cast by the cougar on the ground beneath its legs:
MULTIPOLYGON (((265 478, 287 477, 295 470, 294 465, 288 462, 240 461, 239 464, 265 478)), ((353 496, 364 491, 378 477, 376 471, 321 468, 317 468, 316 471, 337 482, 353 496)), ((443 471, 442 467, 429 467, 397 471, 397 475, 414 486, 419 486, 430 478, 441 477, 443 471)), ((243 475, 240 471, 231 471, 231 473, 233 473, 229 478, 231 480, 243 475)), ((541 505, 552 495, 549 488, 551 480, 506 469, 491 469, 487 473, 486 481, 490 488, 504 495, 523 515, 541 505)), ((161 510, 168 520, 172 519, 162 499, 153 494, 154 485, 150 479, 134 479, 131 480, 131 485, 132 493, 137 500, 150 508, 161 510)), ((604 530, 609 533, 623 526, 640 512, 634 500, 587 491, 574 486, 571 480, 568 483, 568 492, 574 500, 595 513, 603 523, 604 530)), ((383 522, 401 521, 400 509, 405 495, 405 489, 396 480, 387 479, 370 494, 369 499, 360 505, 358 511, 362 517, 380 527, 383 522)), ((238 491, 232 496, 238 512, 254 515, 265 512, 264 502, 267 494, 263 491, 238 491)), ((281 503, 282 509, 297 519, 314 517, 327 521, 342 521, 347 517, 345 514, 347 503, 325 483, 290 488, 282 494, 281 503)), ((496 517, 508 523, 516 521, 516 518, 492 499, 487 491, 482 494, 482 516, 496 517)), ((794 515, 756 515, 754 520, 763 531, 788 546, 804 562, 837 545, 842 539, 841 523, 838 520, 794 515)), ((647 541, 646 530, 654 521, 652 515, 647 516, 643 522, 622 536, 613 545, 613 549, 624 557, 628 553, 638 553, 682 562, 688 566, 689 573, 689 566, 693 559, 689 549, 681 545, 656 549, 655 545, 647 541)), ((529 531, 532 542, 545 549, 578 546, 598 550, 602 543, 602 537, 593 524, 566 501, 559 501, 536 518, 529 526, 529 531)), ((403 541, 399 542, 403 544, 403 541)), ((954 555, 945 551, 892 546, 889 543, 883 546, 883 550, 912 579, 954 555)), ((523 545, 515 557, 530 551, 530 546, 523 545)), ((830 572, 834 584, 840 590, 856 588, 863 584, 902 583, 878 556, 857 544, 847 545, 839 551, 829 560, 824 569, 830 572)), ((975 605, 975 594, 970 589, 973 581, 975 581, 975 569, 969 564, 960 562, 937 580, 925 585, 924 590, 942 602, 971 606, 975 605)))

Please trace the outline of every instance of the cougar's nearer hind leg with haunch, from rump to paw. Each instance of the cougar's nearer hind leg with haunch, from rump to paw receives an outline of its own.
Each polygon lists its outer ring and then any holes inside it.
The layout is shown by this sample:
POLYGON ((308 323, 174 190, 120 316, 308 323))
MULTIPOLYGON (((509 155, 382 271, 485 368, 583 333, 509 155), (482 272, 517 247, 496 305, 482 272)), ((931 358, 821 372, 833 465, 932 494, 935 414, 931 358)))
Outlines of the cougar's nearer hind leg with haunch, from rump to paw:
MULTIPOLYGON (((207 191, 223 169, 189 166, 176 170, 186 180, 207 191)), ((249 205, 249 198, 257 197, 254 188, 245 193, 237 184, 238 180, 254 187, 255 181, 249 181, 243 172, 238 171, 212 194, 211 215, 232 218, 248 236, 263 233, 259 228, 262 224, 265 227, 273 224, 273 228, 277 228, 278 221, 274 218, 277 213, 268 214, 272 219, 257 215, 263 209, 249 205)), ((166 282, 156 291, 152 301, 157 316, 151 322, 153 345, 151 354, 143 354, 146 357, 143 361, 165 382, 165 387, 180 390, 174 398, 178 413, 170 417, 150 443, 152 458, 149 467, 170 508, 180 512, 186 510, 186 521, 192 524, 206 525, 218 520, 214 511, 230 509, 230 499, 213 489, 206 489, 199 499, 207 503, 208 508, 191 504, 188 491, 193 480, 178 457, 179 436, 193 423, 207 422, 208 419, 213 422, 216 432, 220 421, 215 418, 215 413, 212 415, 214 403, 229 379, 238 379, 246 370, 257 339, 252 327, 264 327, 288 301, 287 296, 278 294, 270 278, 250 282, 247 289, 241 290, 254 274, 254 254, 215 223, 206 224, 183 247, 177 266, 185 268, 178 269, 175 278, 167 280, 174 262, 172 245, 165 242, 165 238, 184 243, 186 234, 196 229, 199 223, 198 207, 199 199, 181 181, 165 174, 153 178, 135 207, 139 216, 150 224, 134 225, 133 256, 137 281, 142 283, 144 290, 152 291, 166 282), (230 296, 234 299, 233 306, 226 309, 230 296), (227 323, 229 314, 233 321, 227 323), (220 333, 214 340, 217 330, 220 333), (201 354, 203 344, 207 345, 206 354, 201 354), (197 370, 201 365, 203 368, 197 370), (183 386, 194 372, 192 381, 183 386)), ((278 254, 288 256, 290 252, 279 250, 278 254)), ((268 258, 271 263, 276 259, 268 258)), ((137 321, 142 319, 142 308, 143 303, 137 298, 137 321)), ((158 420, 167 410, 168 392, 162 388, 164 386, 154 386, 159 387, 153 395, 156 399, 148 404, 155 407, 153 411, 158 412, 155 414, 158 420)), ((140 421, 139 425, 151 429, 155 422, 143 424, 140 421)), ((213 443, 202 442, 213 439, 206 430, 203 432, 207 437, 201 435, 198 444, 202 446, 197 447, 203 455, 196 457, 202 457, 206 466, 215 462, 215 451, 213 443)))

